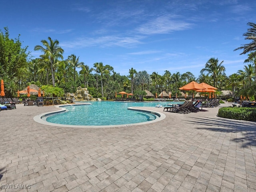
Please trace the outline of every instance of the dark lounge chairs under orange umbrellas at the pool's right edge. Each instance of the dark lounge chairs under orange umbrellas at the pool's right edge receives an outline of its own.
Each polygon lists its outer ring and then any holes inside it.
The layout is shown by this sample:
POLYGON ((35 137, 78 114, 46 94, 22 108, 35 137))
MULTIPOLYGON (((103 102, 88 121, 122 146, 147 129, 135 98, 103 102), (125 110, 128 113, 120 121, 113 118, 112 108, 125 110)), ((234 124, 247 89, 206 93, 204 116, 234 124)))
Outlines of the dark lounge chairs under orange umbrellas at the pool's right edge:
POLYGON ((170 112, 182 112, 183 114, 185 113, 190 113, 190 112, 198 112, 200 111, 200 105, 201 105, 201 101, 196 101, 193 104, 193 101, 185 101, 182 105, 177 105, 177 104, 173 104, 170 107, 164 107, 164 111, 166 109, 166 111, 170 112))

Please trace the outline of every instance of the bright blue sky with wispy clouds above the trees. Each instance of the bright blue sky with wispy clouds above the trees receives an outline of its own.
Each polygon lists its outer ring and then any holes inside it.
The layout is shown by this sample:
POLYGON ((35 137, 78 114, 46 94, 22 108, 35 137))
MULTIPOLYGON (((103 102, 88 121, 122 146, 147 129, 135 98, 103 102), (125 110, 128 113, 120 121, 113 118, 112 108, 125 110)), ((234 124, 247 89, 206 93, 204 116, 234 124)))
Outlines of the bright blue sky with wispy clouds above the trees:
MULTIPOLYGON (((244 67, 247 55, 233 51, 256 22, 255 0, 0 0, 0 29, 8 26, 35 58, 34 46, 51 37, 64 59, 79 56, 93 67, 103 62, 121 75, 192 72, 196 78, 212 57, 226 75, 244 67)), ((79 69, 78 69, 79 70, 79 69)))

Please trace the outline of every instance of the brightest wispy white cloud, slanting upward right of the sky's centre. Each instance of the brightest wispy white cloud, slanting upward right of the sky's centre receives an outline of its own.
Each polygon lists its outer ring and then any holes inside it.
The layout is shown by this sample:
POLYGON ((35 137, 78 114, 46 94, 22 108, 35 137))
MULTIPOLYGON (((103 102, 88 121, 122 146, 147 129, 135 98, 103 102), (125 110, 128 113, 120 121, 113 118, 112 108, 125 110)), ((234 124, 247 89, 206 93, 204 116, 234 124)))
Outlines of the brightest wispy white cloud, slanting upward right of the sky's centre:
POLYGON ((167 34, 173 31, 191 28, 192 24, 177 20, 176 16, 160 16, 146 24, 142 24, 136 30, 141 34, 167 34))

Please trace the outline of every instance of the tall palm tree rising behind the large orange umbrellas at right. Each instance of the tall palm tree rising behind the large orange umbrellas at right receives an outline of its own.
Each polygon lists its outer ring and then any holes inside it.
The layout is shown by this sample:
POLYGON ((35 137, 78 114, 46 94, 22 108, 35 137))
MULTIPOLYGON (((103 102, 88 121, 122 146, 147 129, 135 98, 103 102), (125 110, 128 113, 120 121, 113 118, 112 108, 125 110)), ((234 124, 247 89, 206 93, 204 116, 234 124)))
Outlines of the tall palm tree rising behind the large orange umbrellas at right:
POLYGON ((210 58, 205 64, 205 68, 200 71, 201 74, 207 72, 207 75, 212 75, 214 87, 217 87, 218 77, 225 72, 225 67, 222 65, 223 62, 219 63, 218 58, 210 58))

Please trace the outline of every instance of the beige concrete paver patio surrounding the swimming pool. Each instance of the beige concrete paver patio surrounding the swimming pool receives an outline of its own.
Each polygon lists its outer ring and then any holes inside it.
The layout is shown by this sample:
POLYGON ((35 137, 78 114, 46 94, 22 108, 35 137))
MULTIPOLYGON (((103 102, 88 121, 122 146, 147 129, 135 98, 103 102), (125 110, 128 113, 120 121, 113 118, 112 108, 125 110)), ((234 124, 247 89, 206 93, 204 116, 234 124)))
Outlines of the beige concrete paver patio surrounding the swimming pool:
POLYGON ((190 114, 151 108, 166 118, 138 126, 66 128, 33 120, 54 106, 17 104, 0 112, 0 190, 256 191, 256 122, 216 116, 230 105, 190 114))

